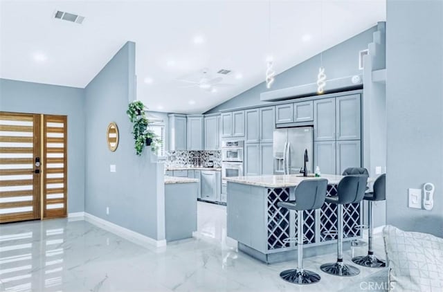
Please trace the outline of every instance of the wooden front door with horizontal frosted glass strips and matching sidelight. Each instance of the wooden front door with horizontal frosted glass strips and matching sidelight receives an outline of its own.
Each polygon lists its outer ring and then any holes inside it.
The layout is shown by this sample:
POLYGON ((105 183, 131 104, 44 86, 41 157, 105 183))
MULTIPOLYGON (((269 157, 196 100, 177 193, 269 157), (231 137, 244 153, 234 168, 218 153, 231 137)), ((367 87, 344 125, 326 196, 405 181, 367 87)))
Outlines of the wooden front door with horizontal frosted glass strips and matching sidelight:
POLYGON ((66 116, 0 112, 0 223, 66 217, 66 116))

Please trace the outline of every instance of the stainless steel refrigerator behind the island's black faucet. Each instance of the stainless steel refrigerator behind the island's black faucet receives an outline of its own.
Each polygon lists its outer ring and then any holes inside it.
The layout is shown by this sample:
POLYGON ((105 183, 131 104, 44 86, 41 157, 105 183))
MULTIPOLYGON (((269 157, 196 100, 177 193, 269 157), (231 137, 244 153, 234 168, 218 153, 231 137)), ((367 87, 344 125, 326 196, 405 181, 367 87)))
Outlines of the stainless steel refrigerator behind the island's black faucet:
POLYGON ((273 134, 274 174, 300 174, 305 159, 305 149, 309 161, 306 167, 313 172, 312 148, 314 147, 313 127, 292 127, 275 129, 273 134))

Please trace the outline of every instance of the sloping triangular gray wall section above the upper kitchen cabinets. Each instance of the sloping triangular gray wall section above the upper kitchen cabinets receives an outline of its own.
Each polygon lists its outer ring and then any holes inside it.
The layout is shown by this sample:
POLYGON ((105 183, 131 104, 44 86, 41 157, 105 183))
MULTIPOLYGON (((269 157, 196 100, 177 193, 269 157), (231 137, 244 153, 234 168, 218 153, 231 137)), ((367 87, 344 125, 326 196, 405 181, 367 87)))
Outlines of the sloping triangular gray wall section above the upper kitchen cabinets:
MULTIPOLYGON (((375 30, 377 30, 377 26, 365 30, 363 33, 359 33, 359 35, 347 39, 345 42, 323 52, 323 66, 326 69, 327 79, 363 73, 359 70, 359 51, 368 48, 368 44, 372 42, 372 33, 374 33, 375 30)), ((266 89, 266 84, 262 82, 244 91, 244 93, 217 105, 217 107, 210 109, 206 113, 217 113, 221 109, 270 104, 269 102, 260 101, 260 93, 316 82, 319 66, 320 55, 315 55, 305 62, 293 66, 291 69, 277 75, 271 89, 266 89)))

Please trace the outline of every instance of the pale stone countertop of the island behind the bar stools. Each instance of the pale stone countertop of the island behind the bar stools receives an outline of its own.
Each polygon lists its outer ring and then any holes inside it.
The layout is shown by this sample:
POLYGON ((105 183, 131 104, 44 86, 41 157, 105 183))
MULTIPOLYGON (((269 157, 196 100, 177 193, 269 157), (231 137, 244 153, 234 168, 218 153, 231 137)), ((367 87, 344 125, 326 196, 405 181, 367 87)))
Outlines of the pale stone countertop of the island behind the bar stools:
MULTIPOLYGON (((335 174, 322 174, 320 179, 327 179, 329 185, 336 185, 344 176, 335 174)), ((245 185, 257 185, 264 188, 289 188, 295 187, 305 179, 316 179, 315 177, 303 177, 298 174, 289 175, 263 175, 263 176, 230 176, 226 181, 232 183, 243 183, 245 185)), ((368 182, 374 181, 372 178, 368 182)))

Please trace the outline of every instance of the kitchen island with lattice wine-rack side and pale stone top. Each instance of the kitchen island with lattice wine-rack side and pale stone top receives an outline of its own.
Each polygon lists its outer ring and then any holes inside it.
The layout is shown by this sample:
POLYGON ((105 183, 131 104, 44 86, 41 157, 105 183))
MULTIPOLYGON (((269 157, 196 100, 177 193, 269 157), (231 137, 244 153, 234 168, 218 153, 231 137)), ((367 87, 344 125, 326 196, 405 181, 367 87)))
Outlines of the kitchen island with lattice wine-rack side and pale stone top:
MULTIPOLYGON (((322 175, 328 180, 327 196, 336 194, 343 176, 322 175)), ((304 179, 300 175, 228 177, 227 235, 238 241, 244 253, 268 264, 294 259, 296 244, 284 239, 296 237, 296 212, 277 206, 279 201, 294 200, 293 189, 304 179)), ((343 206, 343 243, 361 238, 361 203, 343 206)), ((303 212, 304 253, 319 255, 336 249, 336 206, 324 203, 318 210, 303 212), (318 248, 321 246, 322 248, 318 248)))

